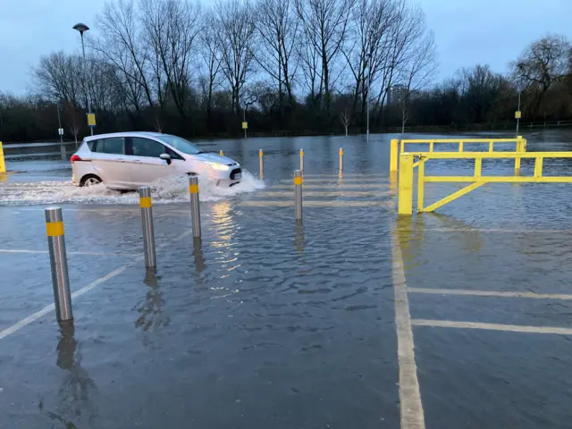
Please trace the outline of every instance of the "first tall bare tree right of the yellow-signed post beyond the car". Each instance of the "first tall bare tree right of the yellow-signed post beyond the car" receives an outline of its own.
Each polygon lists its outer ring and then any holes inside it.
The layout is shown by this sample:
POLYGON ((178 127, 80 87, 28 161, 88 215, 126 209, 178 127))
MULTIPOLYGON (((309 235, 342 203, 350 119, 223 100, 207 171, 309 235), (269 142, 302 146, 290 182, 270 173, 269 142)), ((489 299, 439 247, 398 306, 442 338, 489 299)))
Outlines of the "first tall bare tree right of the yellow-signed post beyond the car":
POLYGON ((284 95, 288 97, 288 107, 294 105, 292 88, 298 67, 293 54, 299 34, 299 20, 293 0, 259 0, 255 22, 260 36, 257 63, 275 82, 282 112, 284 95))

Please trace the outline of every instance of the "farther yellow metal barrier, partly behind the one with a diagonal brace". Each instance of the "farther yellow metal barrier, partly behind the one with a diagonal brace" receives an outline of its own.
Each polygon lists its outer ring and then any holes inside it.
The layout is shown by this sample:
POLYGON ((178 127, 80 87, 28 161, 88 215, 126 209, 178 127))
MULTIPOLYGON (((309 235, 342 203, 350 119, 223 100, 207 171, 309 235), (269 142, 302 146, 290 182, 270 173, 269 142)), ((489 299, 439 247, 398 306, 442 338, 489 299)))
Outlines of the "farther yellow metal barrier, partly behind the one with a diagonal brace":
MULTIPOLYGON (((390 156, 390 172, 398 171, 398 151, 405 153, 405 145, 429 145, 429 151, 413 150, 411 152, 416 154, 433 154, 435 152, 435 145, 439 144, 457 144, 458 153, 465 152, 466 145, 475 144, 488 144, 489 153, 494 152, 494 145, 499 143, 514 143, 515 152, 526 152, 526 139, 518 136, 516 139, 392 139, 391 140, 391 156, 390 156)), ((515 159, 515 172, 518 174, 520 171, 520 158, 515 159)))

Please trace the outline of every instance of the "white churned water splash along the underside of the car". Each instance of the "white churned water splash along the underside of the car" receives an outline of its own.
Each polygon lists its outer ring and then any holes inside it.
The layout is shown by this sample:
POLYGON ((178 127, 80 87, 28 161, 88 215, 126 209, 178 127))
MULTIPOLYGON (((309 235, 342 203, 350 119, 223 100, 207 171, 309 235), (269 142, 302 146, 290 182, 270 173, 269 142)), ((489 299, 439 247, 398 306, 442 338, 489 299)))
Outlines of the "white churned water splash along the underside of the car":
MULTIPOLYGON (((265 182, 249 172, 242 172, 242 180, 231 188, 218 187, 213 181, 199 178, 200 200, 220 201, 246 192, 264 189, 265 182)), ((151 184, 154 204, 189 201, 189 179, 174 176, 151 184)), ((137 192, 122 192, 105 188, 104 184, 78 188, 71 181, 38 181, 33 183, 7 182, 0 184, 0 206, 30 206, 36 204, 139 204, 137 192)))

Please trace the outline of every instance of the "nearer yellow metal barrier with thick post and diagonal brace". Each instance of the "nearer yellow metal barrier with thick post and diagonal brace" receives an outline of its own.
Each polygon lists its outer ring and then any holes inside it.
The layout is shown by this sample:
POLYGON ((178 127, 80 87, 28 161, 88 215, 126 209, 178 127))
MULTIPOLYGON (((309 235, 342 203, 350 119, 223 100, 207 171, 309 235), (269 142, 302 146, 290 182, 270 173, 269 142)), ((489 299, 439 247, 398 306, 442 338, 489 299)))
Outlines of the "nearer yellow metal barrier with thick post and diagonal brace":
POLYGON ((462 197, 473 189, 486 183, 572 183, 572 176, 543 176, 544 158, 572 158, 572 152, 433 152, 403 153, 400 155, 399 181, 399 214, 413 213, 413 170, 417 172, 417 212, 433 212, 439 207, 462 197), (418 162, 415 163, 415 159, 418 162), (483 176, 483 159, 534 159, 534 175, 532 176, 483 176), (426 176, 425 162, 430 159, 474 159, 475 170, 472 176, 426 176), (436 203, 425 207, 426 182, 470 183, 467 187, 453 192, 436 203))

